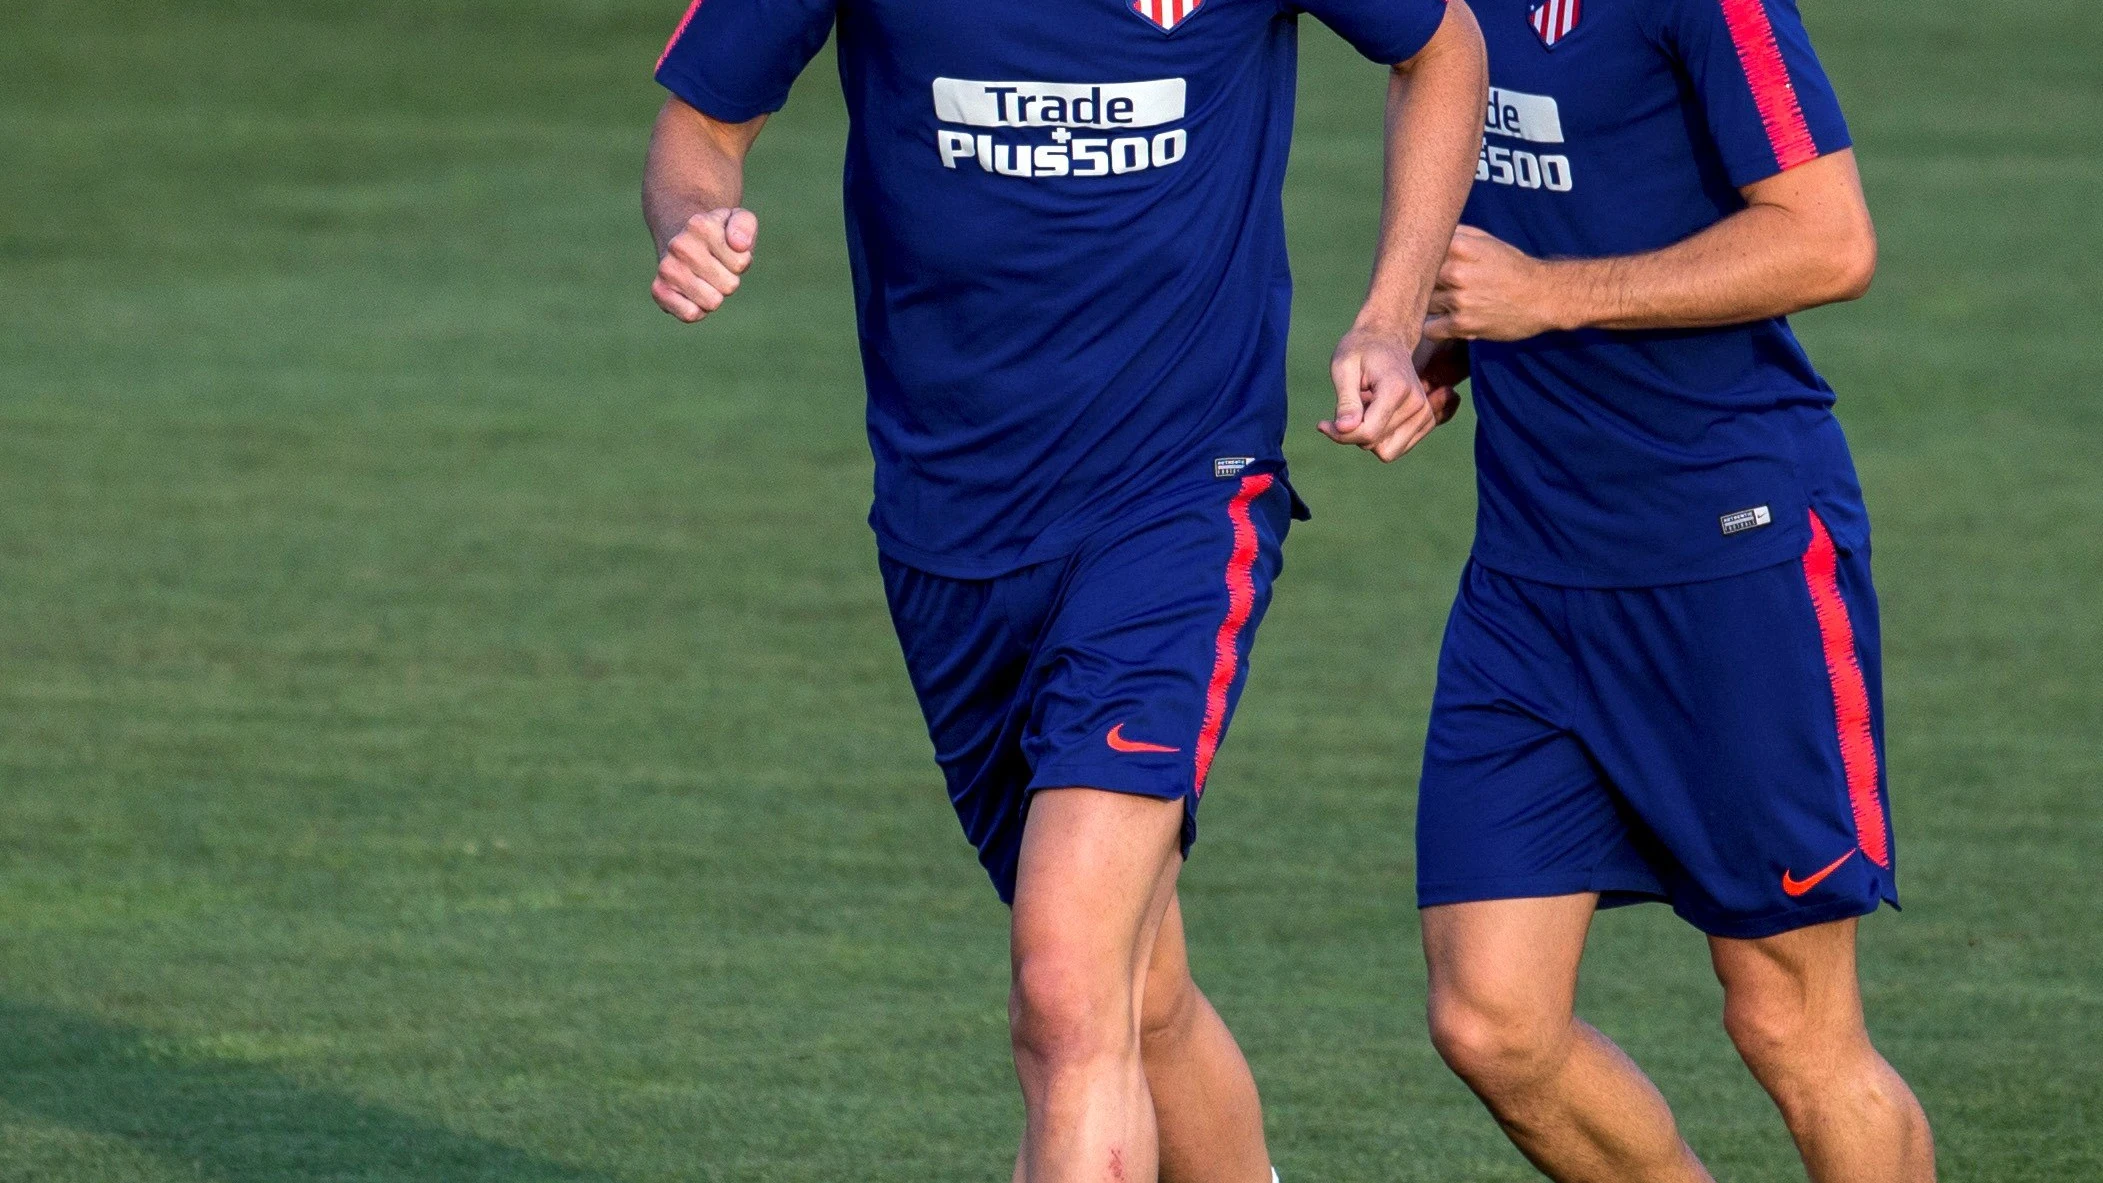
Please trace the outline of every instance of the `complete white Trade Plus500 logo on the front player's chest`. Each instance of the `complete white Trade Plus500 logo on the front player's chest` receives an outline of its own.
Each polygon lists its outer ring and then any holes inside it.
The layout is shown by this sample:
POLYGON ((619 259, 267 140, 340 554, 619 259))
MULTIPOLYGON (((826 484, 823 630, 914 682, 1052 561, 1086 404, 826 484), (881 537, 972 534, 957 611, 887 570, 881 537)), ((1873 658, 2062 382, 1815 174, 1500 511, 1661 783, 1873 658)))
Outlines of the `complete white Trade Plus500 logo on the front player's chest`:
POLYGON ((1165 168, 1190 151, 1184 80, 972 82, 934 80, 934 118, 988 132, 936 130, 942 168, 976 162, 1001 177, 1108 177, 1165 168), (1007 132, 999 128, 1012 128, 1007 132), (1039 134, 1020 134, 1037 132, 1039 134))

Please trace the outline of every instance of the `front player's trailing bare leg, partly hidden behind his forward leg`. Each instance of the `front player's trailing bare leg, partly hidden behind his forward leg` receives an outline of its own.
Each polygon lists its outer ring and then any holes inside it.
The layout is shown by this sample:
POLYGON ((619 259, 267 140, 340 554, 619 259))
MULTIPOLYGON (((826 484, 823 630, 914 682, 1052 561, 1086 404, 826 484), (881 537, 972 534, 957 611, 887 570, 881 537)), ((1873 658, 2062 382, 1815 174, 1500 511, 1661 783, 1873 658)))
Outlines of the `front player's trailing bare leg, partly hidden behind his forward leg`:
POLYGON ((1155 1095, 1161 1183, 1270 1183, 1255 1078, 1220 1013, 1190 979, 1182 906, 1173 893, 1146 969, 1140 1034, 1155 1095))

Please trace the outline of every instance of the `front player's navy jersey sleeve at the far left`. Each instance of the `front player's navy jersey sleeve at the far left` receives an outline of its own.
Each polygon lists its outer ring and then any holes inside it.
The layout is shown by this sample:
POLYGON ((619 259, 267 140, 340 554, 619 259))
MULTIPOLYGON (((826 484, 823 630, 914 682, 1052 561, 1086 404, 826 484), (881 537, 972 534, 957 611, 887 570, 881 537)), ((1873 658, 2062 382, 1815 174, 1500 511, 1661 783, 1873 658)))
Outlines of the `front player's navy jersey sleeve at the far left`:
POLYGON ((742 124, 782 109, 833 32, 837 0, 692 0, 656 80, 696 111, 742 124))

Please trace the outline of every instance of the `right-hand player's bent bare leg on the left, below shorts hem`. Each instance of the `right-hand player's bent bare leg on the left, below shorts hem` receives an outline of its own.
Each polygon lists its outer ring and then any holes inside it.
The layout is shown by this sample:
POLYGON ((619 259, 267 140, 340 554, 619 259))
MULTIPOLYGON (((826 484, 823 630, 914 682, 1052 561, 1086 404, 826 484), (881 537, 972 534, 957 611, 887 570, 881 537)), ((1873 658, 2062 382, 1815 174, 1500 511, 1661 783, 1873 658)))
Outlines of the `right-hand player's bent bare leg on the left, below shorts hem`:
POLYGON ((1596 895, 1424 910, 1432 1042, 1558 1183, 1710 1183, 1672 1112, 1575 1017, 1596 895))

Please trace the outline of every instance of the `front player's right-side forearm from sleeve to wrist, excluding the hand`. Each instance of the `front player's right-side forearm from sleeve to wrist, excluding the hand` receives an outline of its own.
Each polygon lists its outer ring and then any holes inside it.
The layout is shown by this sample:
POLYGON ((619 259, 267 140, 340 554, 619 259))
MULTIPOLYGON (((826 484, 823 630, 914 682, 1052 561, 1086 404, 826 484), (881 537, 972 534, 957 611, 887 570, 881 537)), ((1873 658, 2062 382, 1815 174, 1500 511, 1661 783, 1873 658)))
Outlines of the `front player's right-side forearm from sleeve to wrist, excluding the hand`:
POLYGON ((1453 0, 1432 42, 1388 82, 1380 252, 1359 326, 1417 338, 1438 261, 1474 185, 1487 95, 1483 32, 1468 4, 1453 0))

